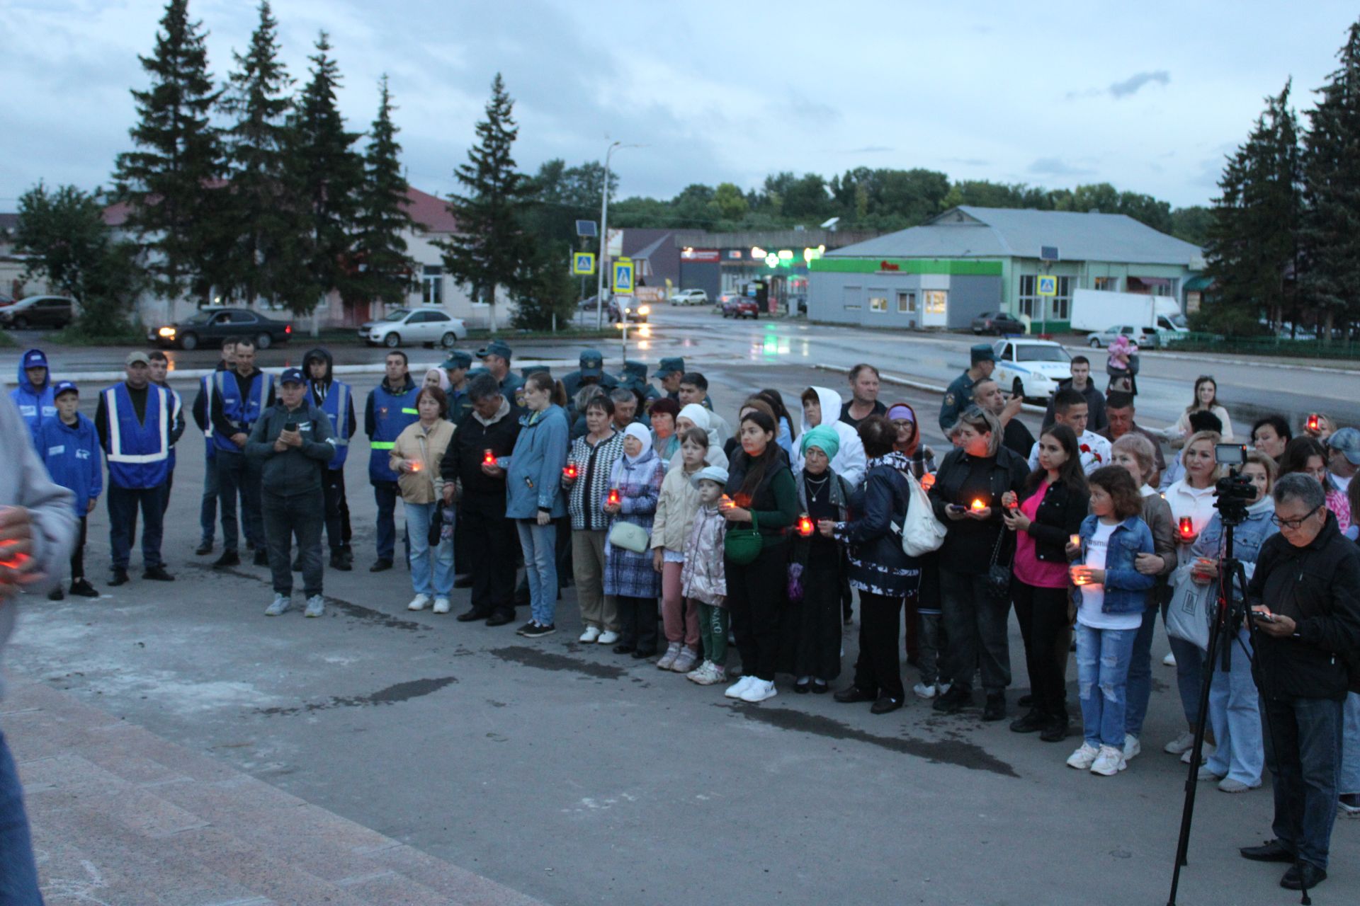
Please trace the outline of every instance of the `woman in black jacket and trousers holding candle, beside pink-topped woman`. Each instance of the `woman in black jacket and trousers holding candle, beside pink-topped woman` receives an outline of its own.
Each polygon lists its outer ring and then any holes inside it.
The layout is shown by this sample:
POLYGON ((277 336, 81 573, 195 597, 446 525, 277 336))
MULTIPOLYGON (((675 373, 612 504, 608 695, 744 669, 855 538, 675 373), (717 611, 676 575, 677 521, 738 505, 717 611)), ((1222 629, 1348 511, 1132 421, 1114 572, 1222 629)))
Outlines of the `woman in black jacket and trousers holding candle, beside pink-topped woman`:
POLYGON ((996 595, 987 583, 993 561, 1010 564, 1012 539, 1001 522, 1001 496, 1020 490, 1030 466, 1001 444, 1001 422, 978 406, 959 417, 957 444, 940 463, 930 501, 948 527, 940 546, 940 596, 948 636, 942 671, 953 686, 936 698, 934 709, 953 714, 972 704, 972 675, 981 664, 987 702, 983 720, 1006 714, 1010 647, 1006 640, 1009 595, 996 595))

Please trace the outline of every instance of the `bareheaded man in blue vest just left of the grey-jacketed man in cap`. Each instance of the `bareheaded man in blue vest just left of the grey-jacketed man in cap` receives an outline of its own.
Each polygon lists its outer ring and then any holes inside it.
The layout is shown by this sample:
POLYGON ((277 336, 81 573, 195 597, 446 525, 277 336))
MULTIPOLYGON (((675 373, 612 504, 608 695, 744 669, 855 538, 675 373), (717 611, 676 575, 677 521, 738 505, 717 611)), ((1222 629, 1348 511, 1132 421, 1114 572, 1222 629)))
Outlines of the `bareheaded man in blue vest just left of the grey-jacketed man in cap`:
POLYGON ((246 543, 254 547, 256 566, 269 565, 260 515, 260 463, 246 458, 245 446, 260 413, 273 405, 273 376, 254 367, 254 341, 237 341, 237 367, 212 378, 212 443, 218 460, 218 497, 222 508, 222 556, 214 566, 235 566, 237 496, 246 543))

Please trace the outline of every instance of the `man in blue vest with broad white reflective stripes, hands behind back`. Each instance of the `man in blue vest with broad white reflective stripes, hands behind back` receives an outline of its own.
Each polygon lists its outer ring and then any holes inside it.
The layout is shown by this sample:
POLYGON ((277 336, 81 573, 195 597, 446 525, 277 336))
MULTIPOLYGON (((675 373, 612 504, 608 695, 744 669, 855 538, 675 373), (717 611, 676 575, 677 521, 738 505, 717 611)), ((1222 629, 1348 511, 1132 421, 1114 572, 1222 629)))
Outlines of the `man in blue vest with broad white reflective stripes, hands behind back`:
POLYGON ((165 511, 160 499, 170 478, 170 448, 184 433, 178 398, 151 384, 151 360, 129 352, 126 379, 99 394, 94 427, 109 460, 109 547, 113 551, 110 585, 128 581, 132 538, 141 508, 143 579, 174 581, 160 558, 165 511))

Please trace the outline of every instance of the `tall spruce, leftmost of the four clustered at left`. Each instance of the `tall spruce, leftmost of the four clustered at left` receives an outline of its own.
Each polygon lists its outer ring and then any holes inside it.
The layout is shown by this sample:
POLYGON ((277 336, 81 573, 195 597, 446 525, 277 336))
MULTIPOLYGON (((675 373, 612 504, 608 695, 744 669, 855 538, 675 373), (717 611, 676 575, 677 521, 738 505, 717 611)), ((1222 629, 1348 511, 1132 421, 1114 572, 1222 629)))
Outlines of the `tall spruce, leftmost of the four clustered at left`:
POLYGON ((129 205, 128 228, 147 253, 152 288, 167 297, 208 292, 208 189, 224 164, 211 122, 219 92, 205 37, 203 23, 189 20, 188 0, 166 4, 152 54, 137 57, 151 86, 132 91, 136 149, 118 155, 113 174, 114 197, 129 205))

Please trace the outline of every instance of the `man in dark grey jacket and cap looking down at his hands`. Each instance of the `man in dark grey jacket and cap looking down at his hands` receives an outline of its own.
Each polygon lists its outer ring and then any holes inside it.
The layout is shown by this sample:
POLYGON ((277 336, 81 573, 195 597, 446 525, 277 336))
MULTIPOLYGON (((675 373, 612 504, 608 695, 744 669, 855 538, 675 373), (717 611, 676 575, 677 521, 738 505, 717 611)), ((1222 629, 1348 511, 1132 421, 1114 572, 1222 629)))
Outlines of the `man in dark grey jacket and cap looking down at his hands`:
POLYGON ((325 492, 321 471, 336 454, 330 420, 307 401, 307 382, 298 368, 279 379, 279 402, 250 429, 246 456, 261 462, 260 500, 264 537, 273 575, 273 603, 265 617, 277 617, 292 604, 292 535, 298 535, 302 585, 307 617, 325 613, 321 595, 321 527, 325 492))

